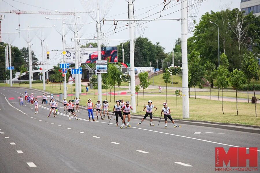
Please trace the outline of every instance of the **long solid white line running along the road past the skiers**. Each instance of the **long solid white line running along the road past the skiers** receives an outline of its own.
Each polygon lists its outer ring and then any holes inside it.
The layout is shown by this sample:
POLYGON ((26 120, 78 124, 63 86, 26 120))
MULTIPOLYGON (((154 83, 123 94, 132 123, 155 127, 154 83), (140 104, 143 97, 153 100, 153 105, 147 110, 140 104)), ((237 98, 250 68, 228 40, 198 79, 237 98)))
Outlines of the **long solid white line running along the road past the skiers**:
MULTIPOLYGON (((8 100, 6 99, 6 101, 8 101, 8 100)), ((41 106, 41 107, 42 107, 42 106, 41 106)), ((42 107, 42 108, 44 108, 44 107, 42 107)), ((51 109, 47 108, 47 110, 51 110, 51 109)), ((69 117, 68 115, 63 114, 63 113, 60 113, 60 115, 69 117)), ((78 118, 78 119, 79 119, 79 120, 83 120, 83 121, 87 121, 87 122, 92 122, 92 121, 88 121, 88 120, 82 119, 82 118, 78 118)), ((95 122, 108 124, 107 122, 102 122, 102 121, 95 121, 95 122)), ((110 124, 114 124, 114 123, 110 123, 110 124)), ((114 125, 115 125, 115 124, 114 124, 114 125)), ((220 142, 214 142, 214 141, 203 140, 203 139, 198 139, 198 138, 192 138, 192 137, 188 137, 188 136, 181 136, 181 135, 176 135, 176 134, 171 134, 171 133, 165 133, 165 132, 161 132, 161 131, 155 131, 155 130, 149 130, 149 129, 142 129, 142 128, 139 128, 139 127, 132 127, 132 128, 140 129, 140 130, 146 130, 146 131, 152 131, 152 132, 155 132, 155 133, 161 133, 161 134, 166 134, 166 135, 178 136, 178 137, 188 138, 188 139, 193 139, 193 140, 199 140, 199 141, 209 142, 209 143, 213 143, 213 144, 220 144, 220 145, 232 146, 232 147, 239 147, 239 148, 242 147, 242 146, 235 146, 235 145, 224 144, 224 143, 220 143, 220 142)), ((246 148, 246 149, 249 150, 249 148, 246 148)), ((260 152, 260 150, 257 150, 257 151, 260 152)))

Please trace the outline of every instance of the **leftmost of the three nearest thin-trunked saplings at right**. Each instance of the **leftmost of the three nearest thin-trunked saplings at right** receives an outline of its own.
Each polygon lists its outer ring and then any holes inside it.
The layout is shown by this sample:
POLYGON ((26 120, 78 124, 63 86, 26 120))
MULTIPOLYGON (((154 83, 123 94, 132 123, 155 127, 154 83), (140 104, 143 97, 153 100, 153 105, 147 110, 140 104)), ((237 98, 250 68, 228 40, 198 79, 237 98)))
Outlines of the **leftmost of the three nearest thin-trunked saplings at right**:
POLYGON ((222 96, 222 113, 224 114, 223 110, 223 88, 229 86, 229 70, 226 69, 224 66, 220 65, 216 70, 216 86, 221 88, 221 96, 222 96))

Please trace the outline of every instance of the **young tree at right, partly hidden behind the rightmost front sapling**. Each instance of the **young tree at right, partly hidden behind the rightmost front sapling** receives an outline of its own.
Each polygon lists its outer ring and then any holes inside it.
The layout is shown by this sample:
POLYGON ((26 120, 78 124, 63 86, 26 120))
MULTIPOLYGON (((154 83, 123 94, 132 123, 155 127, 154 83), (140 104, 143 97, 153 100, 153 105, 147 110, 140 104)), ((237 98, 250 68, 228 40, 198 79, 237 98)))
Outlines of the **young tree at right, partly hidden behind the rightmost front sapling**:
POLYGON ((248 86, 250 84, 250 81, 252 80, 252 78, 255 78, 258 80, 258 74, 257 73, 252 74, 251 71, 249 70, 249 65, 251 63, 250 59, 254 59, 252 52, 246 52, 243 55, 242 63, 241 63, 241 69, 244 72, 244 74, 246 76, 246 80, 247 80, 247 102, 248 103, 249 103, 248 86))

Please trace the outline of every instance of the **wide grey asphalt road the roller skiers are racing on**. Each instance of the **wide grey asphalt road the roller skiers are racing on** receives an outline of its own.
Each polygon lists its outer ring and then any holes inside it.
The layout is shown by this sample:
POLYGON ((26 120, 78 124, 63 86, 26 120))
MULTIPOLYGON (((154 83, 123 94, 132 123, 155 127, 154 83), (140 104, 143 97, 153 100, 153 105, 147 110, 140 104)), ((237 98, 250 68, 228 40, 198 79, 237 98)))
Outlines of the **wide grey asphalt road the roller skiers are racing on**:
POLYGON ((48 118, 47 109, 39 107, 34 114, 33 106, 19 106, 24 91, 0 88, 0 172, 216 172, 215 147, 227 151, 234 146, 258 147, 260 165, 257 133, 182 124, 174 128, 169 121, 165 129, 164 121, 149 126, 149 119, 140 126, 133 119, 132 128, 120 129, 114 118, 109 125, 107 118, 88 121, 86 110, 77 113, 79 121, 69 121, 61 104, 62 113, 48 118))

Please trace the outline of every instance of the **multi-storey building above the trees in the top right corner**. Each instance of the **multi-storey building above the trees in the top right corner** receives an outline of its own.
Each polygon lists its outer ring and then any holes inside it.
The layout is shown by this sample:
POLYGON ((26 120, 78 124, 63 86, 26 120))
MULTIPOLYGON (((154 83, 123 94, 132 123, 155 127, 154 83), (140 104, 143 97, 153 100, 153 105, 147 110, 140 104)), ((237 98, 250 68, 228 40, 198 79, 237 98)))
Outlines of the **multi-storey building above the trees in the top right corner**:
POLYGON ((253 12, 256 16, 260 16, 260 0, 241 0, 240 9, 246 14, 253 12))

